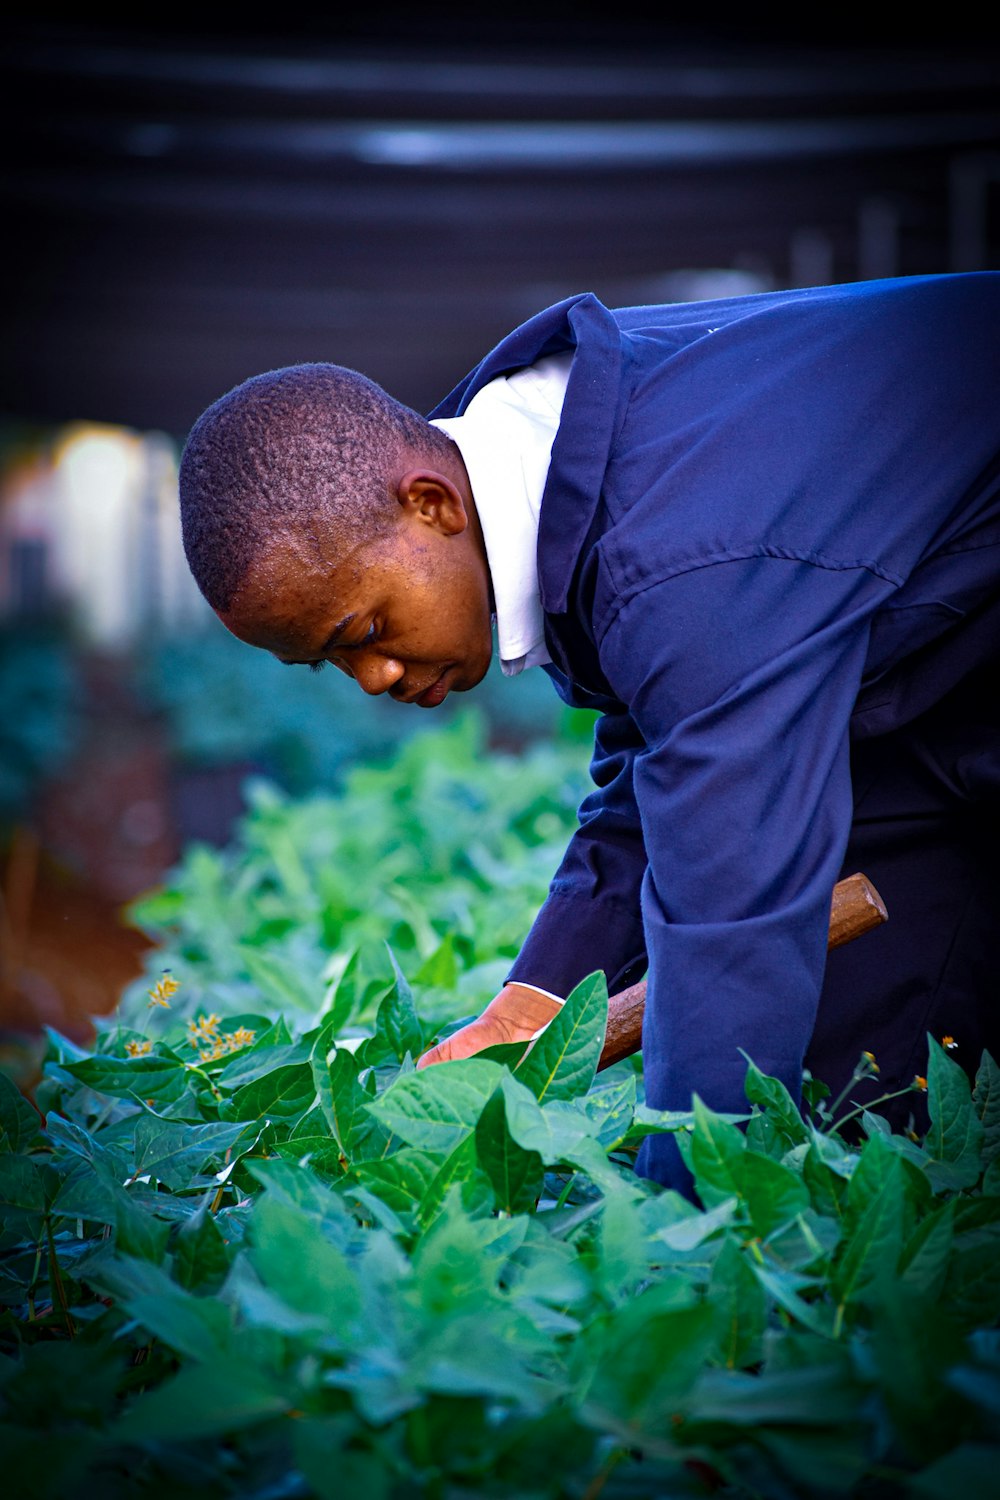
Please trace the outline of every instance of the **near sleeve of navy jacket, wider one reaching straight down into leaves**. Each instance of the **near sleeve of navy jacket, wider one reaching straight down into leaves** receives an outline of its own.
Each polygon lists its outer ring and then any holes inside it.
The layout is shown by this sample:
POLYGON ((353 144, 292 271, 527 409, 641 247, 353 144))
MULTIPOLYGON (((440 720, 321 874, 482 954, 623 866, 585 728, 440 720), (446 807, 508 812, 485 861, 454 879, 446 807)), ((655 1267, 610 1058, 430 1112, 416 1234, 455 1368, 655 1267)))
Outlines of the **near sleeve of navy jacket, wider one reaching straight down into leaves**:
POLYGON ((865 567, 732 558, 637 591, 604 634, 643 741, 654 1107, 697 1092, 744 1110, 741 1048, 799 1096, 850 832, 850 714, 886 591, 865 567))

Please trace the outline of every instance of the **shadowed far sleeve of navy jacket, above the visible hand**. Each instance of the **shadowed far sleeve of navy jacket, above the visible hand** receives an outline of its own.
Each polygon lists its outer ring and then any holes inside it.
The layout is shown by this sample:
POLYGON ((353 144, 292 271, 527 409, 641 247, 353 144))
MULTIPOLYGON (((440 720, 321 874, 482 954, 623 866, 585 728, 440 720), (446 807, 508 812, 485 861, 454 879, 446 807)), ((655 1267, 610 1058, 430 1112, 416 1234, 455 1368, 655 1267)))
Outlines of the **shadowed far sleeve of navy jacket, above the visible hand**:
POLYGON ((633 786, 642 748, 642 735, 621 705, 597 720, 591 759, 595 790, 580 804, 579 828, 508 980, 568 994, 597 969, 604 970, 612 992, 642 976, 639 892, 646 852, 633 786))

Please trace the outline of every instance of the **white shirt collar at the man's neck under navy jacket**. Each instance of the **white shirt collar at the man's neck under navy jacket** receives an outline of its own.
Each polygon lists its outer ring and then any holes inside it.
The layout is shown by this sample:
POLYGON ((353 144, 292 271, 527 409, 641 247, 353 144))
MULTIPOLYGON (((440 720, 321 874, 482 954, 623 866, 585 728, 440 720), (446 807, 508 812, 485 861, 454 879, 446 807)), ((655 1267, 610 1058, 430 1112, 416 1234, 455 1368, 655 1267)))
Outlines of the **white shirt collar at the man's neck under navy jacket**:
POLYGON ((501 670, 552 657, 538 596, 538 512, 573 354, 550 354, 477 392, 460 417, 439 417, 459 446, 483 526, 501 670))

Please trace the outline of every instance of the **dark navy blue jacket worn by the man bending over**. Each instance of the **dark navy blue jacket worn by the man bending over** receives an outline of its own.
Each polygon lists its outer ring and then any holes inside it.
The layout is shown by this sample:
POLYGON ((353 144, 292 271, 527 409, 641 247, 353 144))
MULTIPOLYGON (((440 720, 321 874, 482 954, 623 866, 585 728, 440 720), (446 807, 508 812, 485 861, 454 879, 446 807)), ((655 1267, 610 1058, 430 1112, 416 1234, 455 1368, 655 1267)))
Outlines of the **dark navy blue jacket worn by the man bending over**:
POLYGON ((646 962, 648 1098, 798 1096, 849 742, 1000 651, 1000 274, 541 312, 435 410, 574 348, 538 536, 592 774, 511 972, 646 962))

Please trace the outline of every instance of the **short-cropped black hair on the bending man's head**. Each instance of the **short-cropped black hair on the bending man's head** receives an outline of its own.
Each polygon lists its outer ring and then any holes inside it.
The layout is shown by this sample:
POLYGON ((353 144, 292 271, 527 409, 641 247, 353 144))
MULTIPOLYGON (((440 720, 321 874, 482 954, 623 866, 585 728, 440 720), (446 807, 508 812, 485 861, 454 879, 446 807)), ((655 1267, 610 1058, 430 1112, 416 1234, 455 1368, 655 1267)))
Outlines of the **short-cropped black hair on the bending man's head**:
POLYGON ((207 408, 180 460, 184 554, 213 609, 229 609, 249 568, 282 532, 378 537, 396 512, 400 448, 450 438, 381 386, 342 364, 253 375, 207 408))

